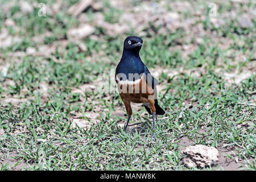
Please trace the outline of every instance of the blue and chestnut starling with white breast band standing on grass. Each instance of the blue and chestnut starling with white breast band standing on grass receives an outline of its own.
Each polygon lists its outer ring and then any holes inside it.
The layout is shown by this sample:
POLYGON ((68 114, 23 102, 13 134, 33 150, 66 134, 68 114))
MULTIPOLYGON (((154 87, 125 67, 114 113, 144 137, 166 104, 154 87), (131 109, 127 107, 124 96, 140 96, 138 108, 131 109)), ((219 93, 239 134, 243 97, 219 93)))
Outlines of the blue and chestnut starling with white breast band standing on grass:
POLYGON ((115 69, 115 82, 119 96, 128 115, 124 132, 126 133, 131 115, 131 102, 142 103, 152 115, 152 138, 155 139, 155 117, 165 111, 158 105, 156 80, 148 71, 139 56, 143 40, 138 36, 128 36, 123 42, 123 53, 115 69))

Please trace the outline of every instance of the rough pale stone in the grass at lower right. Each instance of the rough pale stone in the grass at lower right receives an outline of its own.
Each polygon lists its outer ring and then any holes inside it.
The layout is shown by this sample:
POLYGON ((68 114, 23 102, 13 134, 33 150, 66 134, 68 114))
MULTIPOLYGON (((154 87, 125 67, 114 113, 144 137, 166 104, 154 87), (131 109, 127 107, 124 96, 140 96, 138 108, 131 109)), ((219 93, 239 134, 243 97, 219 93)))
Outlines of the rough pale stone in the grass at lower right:
POLYGON ((214 147, 207 147, 202 144, 183 148, 182 155, 185 155, 183 162, 185 166, 206 167, 215 165, 218 162, 218 150, 214 147))

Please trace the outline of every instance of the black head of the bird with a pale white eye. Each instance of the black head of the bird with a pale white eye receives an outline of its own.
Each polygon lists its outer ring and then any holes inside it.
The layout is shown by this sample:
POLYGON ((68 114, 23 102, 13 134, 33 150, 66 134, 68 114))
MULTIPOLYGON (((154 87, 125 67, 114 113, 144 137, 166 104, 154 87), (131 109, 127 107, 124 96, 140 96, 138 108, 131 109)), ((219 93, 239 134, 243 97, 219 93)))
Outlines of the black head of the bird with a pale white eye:
POLYGON ((125 39, 123 43, 123 51, 129 50, 134 52, 139 52, 142 47, 143 40, 138 38, 138 36, 129 36, 125 39))

